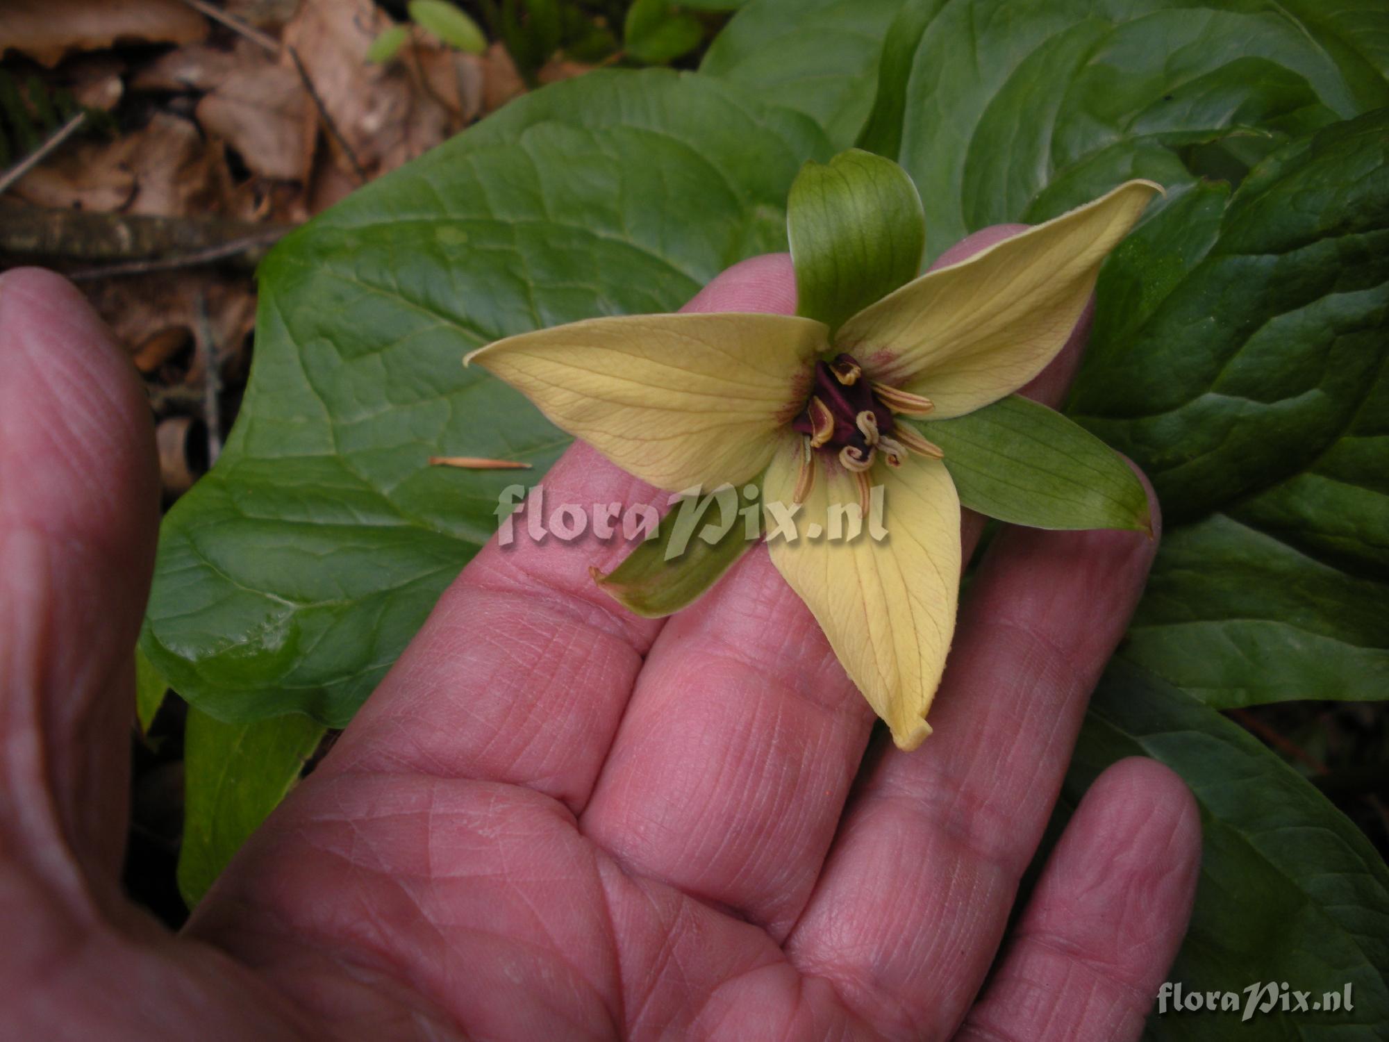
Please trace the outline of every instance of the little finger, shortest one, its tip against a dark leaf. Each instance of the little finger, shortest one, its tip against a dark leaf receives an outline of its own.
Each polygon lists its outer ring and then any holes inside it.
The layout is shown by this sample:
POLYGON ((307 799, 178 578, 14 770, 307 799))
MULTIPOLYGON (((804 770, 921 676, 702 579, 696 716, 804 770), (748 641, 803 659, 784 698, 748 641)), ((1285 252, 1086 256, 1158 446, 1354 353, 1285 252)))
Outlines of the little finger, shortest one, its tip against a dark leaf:
POLYGON ((961 1039, 1136 1039, 1176 949, 1200 871, 1186 785, 1121 760, 1081 800, 961 1039))

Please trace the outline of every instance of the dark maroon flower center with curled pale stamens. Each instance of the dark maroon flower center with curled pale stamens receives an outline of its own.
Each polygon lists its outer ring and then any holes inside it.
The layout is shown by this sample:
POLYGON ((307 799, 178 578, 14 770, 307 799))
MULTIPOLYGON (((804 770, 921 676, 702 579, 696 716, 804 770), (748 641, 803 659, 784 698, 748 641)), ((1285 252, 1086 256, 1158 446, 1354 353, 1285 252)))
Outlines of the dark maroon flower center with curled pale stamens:
POLYGON ((857 475, 865 502, 867 472, 879 456, 889 467, 900 467, 908 449, 939 460, 943 454, 939 447, 911 427, 899 427, 893 420, 895 413, 925 415, 931 410, 929 399, 868 379, 851 354, 817 361, 810 400, 790 424, 793 431, 804 435, 806 445, 796 502, 801 502, 814 483, 813 450, 832 456, 840 467, 857 475))

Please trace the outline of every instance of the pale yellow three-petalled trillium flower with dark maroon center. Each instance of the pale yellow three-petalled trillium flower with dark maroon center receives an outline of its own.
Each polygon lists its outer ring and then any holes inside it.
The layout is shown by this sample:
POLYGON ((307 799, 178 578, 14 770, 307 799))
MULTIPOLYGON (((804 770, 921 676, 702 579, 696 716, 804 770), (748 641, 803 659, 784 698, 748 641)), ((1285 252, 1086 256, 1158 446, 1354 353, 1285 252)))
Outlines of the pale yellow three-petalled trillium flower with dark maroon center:
MULTIPOLYGON (((881 485, 886 538, 772 539, 768 549, 910 750, 931 734, 961 568, 960 497, 931 424, 1003 399, 1056 357, 1100 263, 1160 190, 1125 183, 838 324, 833 306, 828 321, 804 307, 593 318, 499 340, 465 363, 661 489, 760 481, 764 503, 801 504, 814 518, 831 504, 867 507, 881 485)), ((800 283, 796 246, 793 233, 800 283)), ((918 239, 911 274, 920 253, 918 239)))

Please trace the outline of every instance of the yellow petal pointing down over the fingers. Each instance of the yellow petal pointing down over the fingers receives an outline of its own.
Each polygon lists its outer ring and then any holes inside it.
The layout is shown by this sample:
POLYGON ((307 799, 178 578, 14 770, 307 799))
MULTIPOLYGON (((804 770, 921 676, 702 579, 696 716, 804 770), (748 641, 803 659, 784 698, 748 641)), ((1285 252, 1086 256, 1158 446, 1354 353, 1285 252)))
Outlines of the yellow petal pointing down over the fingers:
MULTIPOLYGON (((790 503, 796 447, 776 453, 764 495, 790 503)), ((774 536, 772 563, 814 613, 849 678, 874 713, 892 728, 899 749, 911 750, 931 734, 926 710, 940 684, 960 596, 960 499, 936 460, 911 457, 897 470, 870 471, 882 490, 882 527, 875 540, 868 520, 853 540, 808 539, 811 524, 831 532, 831 504, 857 504, 858 483, 838 464, 821 465, 800 514, 799 538, 774 536)), ((872 513, 872 511, 870 511, 872 513)), ((847 528, 842 529, 850 531, 847 528)))

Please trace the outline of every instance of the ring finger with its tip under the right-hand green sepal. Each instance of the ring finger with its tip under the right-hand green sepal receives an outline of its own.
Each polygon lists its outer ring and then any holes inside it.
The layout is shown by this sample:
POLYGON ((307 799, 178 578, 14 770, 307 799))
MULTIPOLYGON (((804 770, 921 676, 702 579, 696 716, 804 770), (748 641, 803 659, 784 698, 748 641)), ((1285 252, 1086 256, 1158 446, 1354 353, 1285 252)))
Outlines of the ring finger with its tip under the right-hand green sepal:
POLYGON ((788 943, 883 1031, 943 1036, 972 1002, 1154 549, 1010 528, 985 556, 932 738, 868 775, 788 943))

